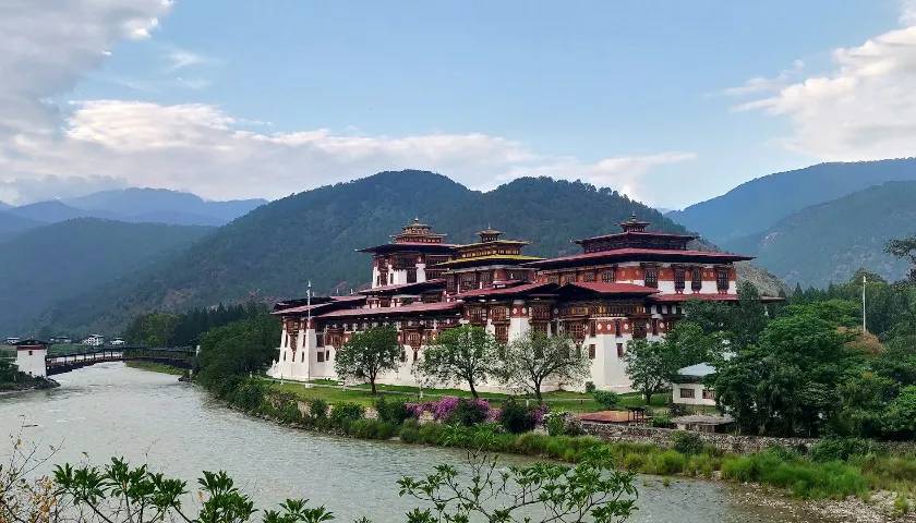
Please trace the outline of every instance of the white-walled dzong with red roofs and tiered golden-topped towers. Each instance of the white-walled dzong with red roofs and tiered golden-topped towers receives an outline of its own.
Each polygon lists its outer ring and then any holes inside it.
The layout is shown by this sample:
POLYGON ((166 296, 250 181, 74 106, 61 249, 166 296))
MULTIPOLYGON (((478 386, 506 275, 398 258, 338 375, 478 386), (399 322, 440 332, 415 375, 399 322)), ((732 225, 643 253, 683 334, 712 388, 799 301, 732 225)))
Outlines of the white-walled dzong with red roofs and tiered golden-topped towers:
POLYGON ((417 385, 411 368, 423 346, 444 329, 471 324, 502 342, 530 329, 564 332, 588 351, 599 389, 630 391, 627 344, 664 337, 688 300, 737 301, 734 264, 751 259, 691 250, 696 236, 648 227, 634 216, 620 232, 577 240, 579 254, 540 258, 522 253, 529 242, 490 228, 475 243, 453 244, 414 220, 388 243, 360 250, 371 256, 367 289, 275 305, 282 333, 269 374, 337 379, 335 353, 349 337, 390 325, 403 345, 401 365, 379 382, 417 385))

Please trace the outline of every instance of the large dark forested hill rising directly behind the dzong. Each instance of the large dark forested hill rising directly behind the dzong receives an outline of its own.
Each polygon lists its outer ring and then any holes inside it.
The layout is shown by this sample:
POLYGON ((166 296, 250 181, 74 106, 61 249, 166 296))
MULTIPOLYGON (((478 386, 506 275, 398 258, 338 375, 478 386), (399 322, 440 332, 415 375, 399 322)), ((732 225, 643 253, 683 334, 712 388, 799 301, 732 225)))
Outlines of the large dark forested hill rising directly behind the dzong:
POLYGON ((607 188, 546 178, 519 179, 480 193, 424 171, 383 172, 306 191, 258 207, 142 276, 55 306, 57 328, 114 329, 133 314, 246 299, 347 293, 370 279, 369 259, 355 250, 388 241, 414 217, 469 242, 487 226, 530 240, 531 254, 578 250, 576 238, 617 230, 636 212, 656 230, 685 229, 654 209, 607 188))

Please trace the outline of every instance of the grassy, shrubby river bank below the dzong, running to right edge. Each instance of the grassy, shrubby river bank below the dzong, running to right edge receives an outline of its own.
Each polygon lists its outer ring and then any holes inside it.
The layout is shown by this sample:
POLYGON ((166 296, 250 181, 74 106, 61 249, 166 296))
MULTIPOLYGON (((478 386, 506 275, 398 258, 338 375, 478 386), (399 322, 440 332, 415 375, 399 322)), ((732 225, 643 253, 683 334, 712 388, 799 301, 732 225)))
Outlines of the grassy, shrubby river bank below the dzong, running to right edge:
MULTIPOLYGON (((851 461, 818 462, 786 449, 734 454, 713 448, 679 451, 651 443, 607 442, 589 436, 549 436, 532 431, 505 434, 492 424, 453 427, 438 423, 401 425, 365 416, 360 405, 338 404, 351 412, 335 418, 322 412, 310 414, 311 405, 293 394, 265 391, 256 380, 246 380, 221 398, 243 412, 297 429, 330 433, 357 439, 398 440, 410 445, 474 447, 491 452, 515 453, 576 462, 593 446, 611 449, 624 470, 679 478, 703 478, 730 484, 760 485, 771 496, 801 499, 806 510, 824 518, 848 521, 891 521, 914 515, 913 460, 868 455, 851 461), (354 413, 354 414, 352 414, 354 413), (900 475, 897 475, 900 474, 900 475)), ((326 409, 326 405, 322 405, 326 409)), ((762 498, 761 498, 762 499, 762 498)), ((771 503, 772 504, 772 503, 771 503)))

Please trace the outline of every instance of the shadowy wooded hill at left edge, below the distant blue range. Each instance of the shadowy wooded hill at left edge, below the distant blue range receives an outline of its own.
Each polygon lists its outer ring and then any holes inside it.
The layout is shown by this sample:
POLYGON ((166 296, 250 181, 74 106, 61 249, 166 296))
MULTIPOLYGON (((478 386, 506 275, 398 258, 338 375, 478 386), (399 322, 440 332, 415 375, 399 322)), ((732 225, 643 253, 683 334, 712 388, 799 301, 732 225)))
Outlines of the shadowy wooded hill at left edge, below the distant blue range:
POLYGON ((52 303, 148 268, 212 230, 79 218, 9 239, 0 243, 0 332, 25 335, 52 303))

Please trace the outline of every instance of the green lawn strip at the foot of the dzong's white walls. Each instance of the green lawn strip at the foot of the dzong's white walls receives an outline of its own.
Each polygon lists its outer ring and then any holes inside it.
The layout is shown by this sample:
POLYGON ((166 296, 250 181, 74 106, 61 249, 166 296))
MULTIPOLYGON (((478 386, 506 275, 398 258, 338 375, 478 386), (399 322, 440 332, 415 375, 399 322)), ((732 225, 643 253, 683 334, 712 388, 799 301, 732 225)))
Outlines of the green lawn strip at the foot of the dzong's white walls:
MULTIPOLYGON (((337 387, 336 381, 326 379, 313 380, 313 386, 311 387, 296 381, 285 381, 280 384, 279 381, 270 380, 270 386, 273 388, 281 390, 284 392, 291 392, 303 400, 321 398, 327 401, 328 403, 352 401, 362 405, 372 405, 372 403, 375 401, 375 398, 373 398, 372 396, 372 389, 369 386, 369 384, 350 386, 347 387, 347 389, 345 390, 337 387)), ((420 389, 418 389, 417 387, 407 387, 398 385, 378 385, 376 388, 382 394, 389 394, 391 397, 397 397, 399 399, 406 399, 411 401, 419 401, 420 399, 420 389)), ((467 390, 460 389, 423 389, 424 400, 434 400, 443 396, 457 396, 459 398, 470 398, 471 393, 467 390)), ((557 390, 552 392, 544 392, 543 396, 544 402, 547 403, 554 410, 566 410, 570 412, 595 412, 604 410, 592 399, 591 394, 557 390)), ((497 392, 481 392, 480 397, 486 400, 502 401, 508 398, 509 396, 497 392)), ((534 401, 533 398, 531 398, 530 396, 520 396, 518 398, 522 400, 530 399, 531 401, 534 401)), ((656 409, 664 408, 666 403, 666 394, 661 393, 653 396, 652 406, 656 409)), ((620 408, 644 405, 646 402, 637 392, 620 394, 620 408)))

